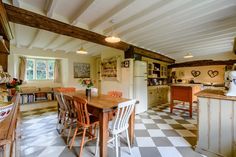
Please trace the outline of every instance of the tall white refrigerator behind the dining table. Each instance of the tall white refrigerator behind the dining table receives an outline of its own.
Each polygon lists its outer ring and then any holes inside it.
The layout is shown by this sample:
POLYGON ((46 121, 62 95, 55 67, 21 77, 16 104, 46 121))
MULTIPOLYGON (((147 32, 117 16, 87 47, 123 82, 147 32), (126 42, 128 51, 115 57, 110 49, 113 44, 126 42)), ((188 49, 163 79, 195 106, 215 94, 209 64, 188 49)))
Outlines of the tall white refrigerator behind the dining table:
POLYGON ((147 111, 147 63, 134 62, 134 98, 139 101, 135 107, 135 114, 147 111))

